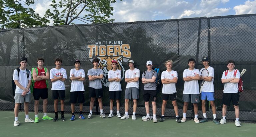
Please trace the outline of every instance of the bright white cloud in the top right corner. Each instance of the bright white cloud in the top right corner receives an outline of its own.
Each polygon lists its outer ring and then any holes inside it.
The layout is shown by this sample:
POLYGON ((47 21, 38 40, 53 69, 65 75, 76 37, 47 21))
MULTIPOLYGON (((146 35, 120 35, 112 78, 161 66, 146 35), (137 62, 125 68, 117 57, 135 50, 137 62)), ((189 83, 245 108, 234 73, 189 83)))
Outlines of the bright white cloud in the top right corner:
POLYGON ((243 5, 238 5, 233 8, 238 14, 253 14, 256 13, 256 0, 254 1, 246 1, 243 5))

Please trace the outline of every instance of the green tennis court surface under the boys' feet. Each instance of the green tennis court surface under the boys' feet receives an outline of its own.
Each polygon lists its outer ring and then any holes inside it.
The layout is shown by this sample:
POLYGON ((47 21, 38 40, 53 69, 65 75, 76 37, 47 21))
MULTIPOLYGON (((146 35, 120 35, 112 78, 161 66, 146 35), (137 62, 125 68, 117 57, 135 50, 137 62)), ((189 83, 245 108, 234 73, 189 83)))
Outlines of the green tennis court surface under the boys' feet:
MULTIPOLYGON (((20 125, 14 127, 14 112, 0 111, 0 115, 1 137, 255 137, 256 134, 256 124, 244 122, 241 127, 236 127, 234 122, 223 125, 214 124, 213 121, 196 124, 189 119, 185 123, 177 123, 174 119, 153 123, 153 120, 142 121, 141 116, 137 116, 137 120, 131 117, 121 120, 116 116, 103 119, 99 115, 84 120, 76 115, 76 119, 70 121, 71 114, 64 114, 66 121, 59 119, 56 122, 40 120, 39 123, 27 123, 24 122, 24 112, 19 112, 20 125)), ((38 115, 41 119, 43 113, 38 115)), ((48 115, 54 117, 53 113, 48 115)), ((34 113, 30 112, 29 117, 34 119, 34 113)))

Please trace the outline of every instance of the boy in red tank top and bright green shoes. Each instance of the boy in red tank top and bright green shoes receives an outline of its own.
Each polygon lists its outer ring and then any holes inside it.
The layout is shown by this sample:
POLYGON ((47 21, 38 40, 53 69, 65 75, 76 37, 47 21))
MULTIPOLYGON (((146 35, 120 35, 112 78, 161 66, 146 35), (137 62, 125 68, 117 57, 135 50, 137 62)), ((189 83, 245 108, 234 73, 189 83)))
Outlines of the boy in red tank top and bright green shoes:
POLYGON ((52 117, 49 117, 47 115, 47 98, 48 98, 48 88, 47 88, 47 83, 48 79, 50 78, 50 74, 47 68, 44 68, 44 59, 43 58, 38 58, 37 59, 37 68, 32 68, 32 76, 33 76, 33 81, 34 83, 34 90, 33 90, 33 96, 35 99, 35 123, 39 122, 38 118, 38 105, 39 105, 39 99, 43 100, 43 120, 52 120, 52 117))

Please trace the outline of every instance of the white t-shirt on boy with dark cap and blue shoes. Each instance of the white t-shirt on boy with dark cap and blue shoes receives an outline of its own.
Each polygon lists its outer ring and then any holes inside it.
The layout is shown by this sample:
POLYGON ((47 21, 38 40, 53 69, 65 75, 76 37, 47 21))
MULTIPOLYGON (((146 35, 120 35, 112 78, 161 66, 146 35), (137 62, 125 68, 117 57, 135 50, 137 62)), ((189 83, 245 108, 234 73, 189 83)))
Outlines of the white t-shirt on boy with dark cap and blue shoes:
MULTIPOLYGON (((74 75, 75 77, 79 77, 82 76, 82 78, 85 78, 85 73, 83 69, 71 69, 70 70, 70 75, 69 78, 71 78, 71 75, 74 75)), ((74 91, 84 91, 84 83, 83 81, 78 81, 78 80, 72 80, 71 81, 71 87, 70 87, 70 92, 74 92, 74 91)))

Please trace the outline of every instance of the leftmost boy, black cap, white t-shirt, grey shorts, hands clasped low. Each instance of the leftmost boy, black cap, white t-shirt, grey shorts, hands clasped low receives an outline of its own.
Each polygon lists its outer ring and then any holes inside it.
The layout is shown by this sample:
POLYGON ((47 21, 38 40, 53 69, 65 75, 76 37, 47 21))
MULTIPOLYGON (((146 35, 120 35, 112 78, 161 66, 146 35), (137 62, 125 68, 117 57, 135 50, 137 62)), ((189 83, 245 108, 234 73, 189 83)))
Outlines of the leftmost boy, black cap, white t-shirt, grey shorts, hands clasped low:
POLYGON ((19 126, 18 114, 19 114, 19 105, 20 103, 24 103, 25 110, 25 122, 34 122, 33 119, 28 116, 28 105, 30 102, 30 85, 31 85, 31 71, 26 69, 27 66, 27 58, 20 58, 20 67, 13 71, 13 80, 16 85, 15 89, 15 107, 14 107, 14 126, 19 126), (29 74, 28 74, 29 73, 29 74))

